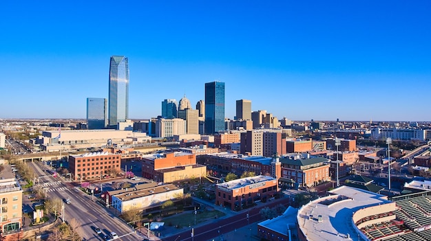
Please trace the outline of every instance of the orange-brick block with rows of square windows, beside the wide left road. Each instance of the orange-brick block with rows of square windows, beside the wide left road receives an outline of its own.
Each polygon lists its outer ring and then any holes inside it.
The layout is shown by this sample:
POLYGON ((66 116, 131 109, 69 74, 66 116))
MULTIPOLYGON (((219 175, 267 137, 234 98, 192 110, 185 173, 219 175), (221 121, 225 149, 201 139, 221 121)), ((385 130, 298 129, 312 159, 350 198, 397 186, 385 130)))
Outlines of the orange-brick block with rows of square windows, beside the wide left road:
POLYGON ((99 179, 101 176, 118 174, 121 171, 121 154, 91 152, 69 156, 69 172, 75 181, 99 179))

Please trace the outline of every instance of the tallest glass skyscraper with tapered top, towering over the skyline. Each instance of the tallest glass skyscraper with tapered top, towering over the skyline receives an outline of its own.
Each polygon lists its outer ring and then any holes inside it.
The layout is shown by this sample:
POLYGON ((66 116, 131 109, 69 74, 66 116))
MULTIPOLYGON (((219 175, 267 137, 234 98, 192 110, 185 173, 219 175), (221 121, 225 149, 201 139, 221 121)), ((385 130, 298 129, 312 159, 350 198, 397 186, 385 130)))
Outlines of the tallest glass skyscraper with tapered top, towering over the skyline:
POLYGON ((129 58, 112 56, 109 65, 109 128, 129 118, 129 58))

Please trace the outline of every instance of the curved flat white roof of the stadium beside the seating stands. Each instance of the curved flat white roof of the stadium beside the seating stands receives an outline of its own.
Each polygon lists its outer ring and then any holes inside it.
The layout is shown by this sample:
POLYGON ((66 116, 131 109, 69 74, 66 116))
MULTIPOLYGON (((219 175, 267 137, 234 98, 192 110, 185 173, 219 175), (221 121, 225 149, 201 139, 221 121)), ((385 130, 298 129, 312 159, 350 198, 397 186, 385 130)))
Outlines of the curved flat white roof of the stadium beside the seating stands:
MULTIPOLYGON (((331 193, 335 195, 313 200, 298 211, 299 229, 309 241, 358 240, 358 232, 360 231, 355 227, 352 220, 355 211, 364 207, 392 203, 387 200, 386 196, 355 187, 341 186, 332 190, 331 193), (331 205, 320 203, 323 200, 337 197, 344 200, 339 200, 331 205), (313 218, 310 219, 310 216, 313 218), (322 222, 317 221, 319 216, 322 216, 322 222), (350 235, 350 239, 346 238, 347 234, 350 235)), ((361 235, 363 234, 361 233, 361 235)))

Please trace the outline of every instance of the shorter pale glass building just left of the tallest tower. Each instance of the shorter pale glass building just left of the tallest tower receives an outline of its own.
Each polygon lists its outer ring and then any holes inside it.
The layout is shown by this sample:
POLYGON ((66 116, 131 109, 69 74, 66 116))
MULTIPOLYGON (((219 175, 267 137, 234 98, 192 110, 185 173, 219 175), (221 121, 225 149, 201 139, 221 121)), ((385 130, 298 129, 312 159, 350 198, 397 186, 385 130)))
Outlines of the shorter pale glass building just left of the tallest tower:
POLYGON ((107 127, 107 99, 87 98, 87 126, 89 130, 107 127))

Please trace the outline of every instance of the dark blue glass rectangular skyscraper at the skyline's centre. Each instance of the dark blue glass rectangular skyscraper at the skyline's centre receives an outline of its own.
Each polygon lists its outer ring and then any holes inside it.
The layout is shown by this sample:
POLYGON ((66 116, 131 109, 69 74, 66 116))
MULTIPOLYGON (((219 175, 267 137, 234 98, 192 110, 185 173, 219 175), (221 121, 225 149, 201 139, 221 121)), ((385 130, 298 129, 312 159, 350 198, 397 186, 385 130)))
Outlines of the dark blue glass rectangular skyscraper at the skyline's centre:
POLYGON ((224 82, 205 83, 205 134, 224 130, 224 82))

